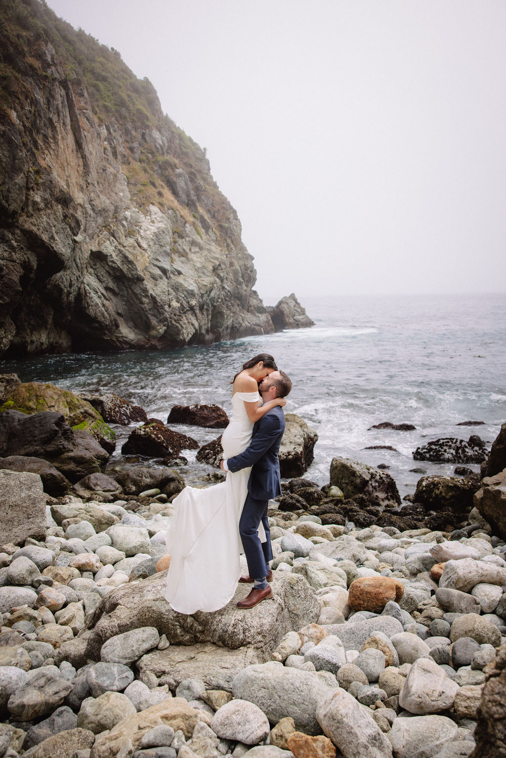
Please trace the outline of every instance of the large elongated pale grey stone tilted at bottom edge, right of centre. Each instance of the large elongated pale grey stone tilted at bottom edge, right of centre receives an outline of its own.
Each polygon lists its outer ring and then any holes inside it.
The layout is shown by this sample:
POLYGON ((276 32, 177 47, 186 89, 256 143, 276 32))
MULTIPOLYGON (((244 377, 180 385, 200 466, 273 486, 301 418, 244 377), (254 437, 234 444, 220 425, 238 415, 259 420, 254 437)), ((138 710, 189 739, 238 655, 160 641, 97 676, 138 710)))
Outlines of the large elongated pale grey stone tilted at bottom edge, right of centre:
POLYGON ((325 735, 345 756, 391 756, 391 744, 368 710, 346 691, 331 691, 316 708, 316 718, 325 735))

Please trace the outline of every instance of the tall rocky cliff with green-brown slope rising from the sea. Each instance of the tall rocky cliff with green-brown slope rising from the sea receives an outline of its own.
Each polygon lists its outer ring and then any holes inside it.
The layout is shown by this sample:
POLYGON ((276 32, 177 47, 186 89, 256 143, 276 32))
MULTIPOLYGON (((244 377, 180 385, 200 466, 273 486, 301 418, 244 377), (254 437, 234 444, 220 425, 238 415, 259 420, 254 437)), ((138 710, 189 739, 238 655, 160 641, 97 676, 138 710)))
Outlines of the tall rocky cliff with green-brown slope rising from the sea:
POLYGON ((0 355, 274 331, 237 213, 151 83, 44 0, 2 0, 0 50, 0 355))

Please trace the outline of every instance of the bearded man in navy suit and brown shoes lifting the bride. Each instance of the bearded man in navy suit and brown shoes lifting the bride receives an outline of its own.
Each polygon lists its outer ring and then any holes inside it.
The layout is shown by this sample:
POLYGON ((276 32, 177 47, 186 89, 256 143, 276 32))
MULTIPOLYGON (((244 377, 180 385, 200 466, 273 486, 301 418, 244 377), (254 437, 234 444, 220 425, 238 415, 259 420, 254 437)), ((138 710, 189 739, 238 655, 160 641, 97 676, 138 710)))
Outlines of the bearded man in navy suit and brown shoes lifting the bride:
MULTIPOLYGON (((263 402, 276 397, 285 397, 291 390, 291 381, 284 371, 272 371, 259 384, 263 402)), ((278 453, 284 432, 284 413, 275 406, 253 426, 250 446, 226 461, 221 462, 223 471, 240 471, 252 466, 248 481, 248 494, 239 521, 239 534, 246 555, 250 575, 240 581, 254 581, 250 594, 237 603, 237 608, 253 608, 261 600, 272 596, 267 580, 272 581, 269 561, 272 561, 271 534, 267 506, 272 497, 281 494, 278 453), (266 542, 260 542, 258 528, 262 522, 266 542)))

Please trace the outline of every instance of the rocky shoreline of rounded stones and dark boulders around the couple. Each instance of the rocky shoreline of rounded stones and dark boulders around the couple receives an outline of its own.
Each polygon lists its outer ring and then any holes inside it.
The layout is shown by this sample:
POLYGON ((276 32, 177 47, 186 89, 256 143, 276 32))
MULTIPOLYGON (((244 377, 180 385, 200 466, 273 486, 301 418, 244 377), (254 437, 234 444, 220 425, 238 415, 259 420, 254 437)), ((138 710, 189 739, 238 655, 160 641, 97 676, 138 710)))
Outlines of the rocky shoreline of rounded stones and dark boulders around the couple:
POLYGON ((63 414, 33 383, 0 387, 0 758, 503 755, 506 424, 481 477, 423 477, 401 502, 386 471, 344 458, 324 487, 303 478, 316 435, 288 415, 274 598, 240 611, 239 585, 185 616, 163 597, 165 532, 191 438, 137 409, 147 448, 113 479, 97 437, 112 444, 105 418, 128 404, 84 421, 72 393, 63 414))

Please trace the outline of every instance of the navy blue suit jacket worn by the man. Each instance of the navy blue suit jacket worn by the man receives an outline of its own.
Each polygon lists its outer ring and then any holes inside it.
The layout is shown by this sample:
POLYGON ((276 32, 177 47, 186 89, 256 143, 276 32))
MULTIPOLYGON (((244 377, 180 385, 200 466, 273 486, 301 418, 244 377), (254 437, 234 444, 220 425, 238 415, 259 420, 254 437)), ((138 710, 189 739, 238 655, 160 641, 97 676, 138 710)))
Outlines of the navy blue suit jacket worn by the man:
POLYGON ((256 500, 270 500, 281 495, 278 453, 284 433, 284 413, 275 406, 253 426, 250 445, 238 456, 228 458, 229 471, 252 466, 248 492, 256 500))

